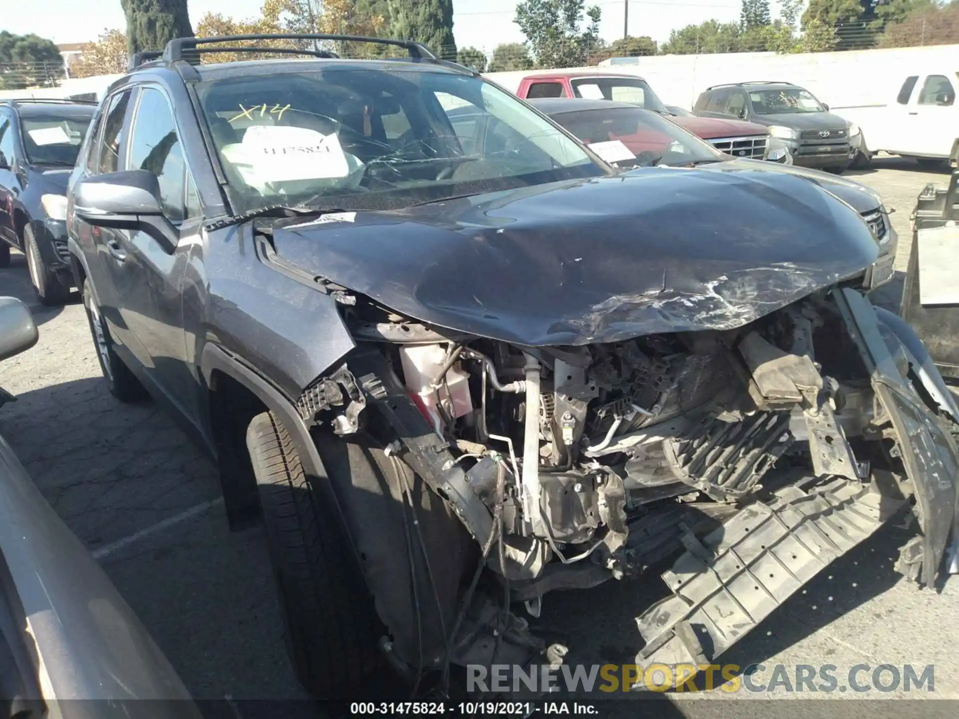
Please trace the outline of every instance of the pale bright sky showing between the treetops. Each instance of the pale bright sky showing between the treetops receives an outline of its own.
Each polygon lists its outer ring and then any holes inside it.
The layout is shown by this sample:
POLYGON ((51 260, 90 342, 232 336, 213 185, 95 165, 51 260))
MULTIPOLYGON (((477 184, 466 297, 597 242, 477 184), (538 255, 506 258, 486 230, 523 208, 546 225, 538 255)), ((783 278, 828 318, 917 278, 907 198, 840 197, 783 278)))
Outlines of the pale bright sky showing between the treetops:
MULTIPOLYGON (((623 0, 595 0, 602 9, 600 35, 614 40, 622 35, 623 0)), ((234 17, 256 15, 263 0, 189 0, 190 19, 196 24, 207 11, 234 17)), ((587 5, 590 5, 587 0, 587 5)), ((778 3, 770 3, 774 14, 778 3)), ((739 0, 629 0, 630 35, 665 40, 669 31, 715 18, 737 20, 739 0)), ((0 30, 36 33, 55 42, 96 39, 105 28, 124 28, 120 0, 24 0, 5 2, 0 30)), ((473 45, 491 51, 501 42, 522 41, 513 22, 516 0, 454 0, 454 35, 460 47, 473 45)))

